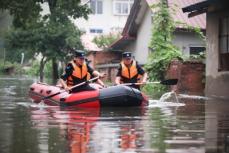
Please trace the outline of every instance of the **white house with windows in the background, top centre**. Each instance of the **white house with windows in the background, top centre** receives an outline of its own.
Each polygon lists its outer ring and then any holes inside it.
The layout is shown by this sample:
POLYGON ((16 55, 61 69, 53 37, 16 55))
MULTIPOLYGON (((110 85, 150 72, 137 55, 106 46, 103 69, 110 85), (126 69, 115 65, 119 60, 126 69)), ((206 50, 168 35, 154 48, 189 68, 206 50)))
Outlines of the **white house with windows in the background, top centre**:
POLYGON ((96 35, 121 32, 134 0, 82 0, 82 3, 89 5, 92 14, 88 20, 80 18, 74 23, 86 34, 96 35))

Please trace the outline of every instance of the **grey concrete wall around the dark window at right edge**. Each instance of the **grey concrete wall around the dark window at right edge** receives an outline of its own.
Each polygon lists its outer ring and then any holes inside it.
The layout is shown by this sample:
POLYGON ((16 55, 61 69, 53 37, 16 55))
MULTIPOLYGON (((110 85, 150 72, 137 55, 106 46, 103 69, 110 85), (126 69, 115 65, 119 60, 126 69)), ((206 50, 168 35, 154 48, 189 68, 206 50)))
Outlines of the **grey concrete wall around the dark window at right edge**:
POLYGON ((219 71, 219 17, 229 11, 207 13, 206 94, 229 98, 229 71, 219 71))

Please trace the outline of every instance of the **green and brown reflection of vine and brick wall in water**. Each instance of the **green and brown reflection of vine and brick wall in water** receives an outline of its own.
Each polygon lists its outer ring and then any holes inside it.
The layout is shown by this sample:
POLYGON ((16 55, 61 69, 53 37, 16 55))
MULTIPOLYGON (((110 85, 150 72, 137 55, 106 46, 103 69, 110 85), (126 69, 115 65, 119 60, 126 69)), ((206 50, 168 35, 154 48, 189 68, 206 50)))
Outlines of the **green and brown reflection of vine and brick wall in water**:
POLYGON ((204 152, 204 106, 190 110, 196 103, 183 107, 151 110, 151 145, 155 152, 204 152))

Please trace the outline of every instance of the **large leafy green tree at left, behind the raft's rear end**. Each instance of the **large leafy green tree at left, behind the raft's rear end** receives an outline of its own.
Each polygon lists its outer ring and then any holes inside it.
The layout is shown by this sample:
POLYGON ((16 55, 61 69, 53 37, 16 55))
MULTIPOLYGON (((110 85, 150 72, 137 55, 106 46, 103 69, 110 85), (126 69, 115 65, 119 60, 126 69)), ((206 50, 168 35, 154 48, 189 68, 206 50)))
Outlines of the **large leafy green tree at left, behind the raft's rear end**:
POLYGON ((64 61, 63 57, 74 48, 82 49, 81 32, 71 21, 72 18, 87 18, 90 13, 80 0, 1 0, 0 9, 9 10, 14 17, 7 38, 9 50, 42 55, 41 81, 47 61, 52 60, 53 79, 56 79, 57 61, 64 61), (46 4, 50 13, 41 16, 41 4, 46 4))

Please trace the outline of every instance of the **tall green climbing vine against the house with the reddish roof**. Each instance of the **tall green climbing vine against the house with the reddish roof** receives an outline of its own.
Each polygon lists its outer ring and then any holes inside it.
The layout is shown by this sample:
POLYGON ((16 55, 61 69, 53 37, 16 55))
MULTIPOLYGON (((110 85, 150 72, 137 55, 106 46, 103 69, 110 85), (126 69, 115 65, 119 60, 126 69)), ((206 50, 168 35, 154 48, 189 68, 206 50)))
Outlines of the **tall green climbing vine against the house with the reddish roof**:
POLYGON ((151 80, 163 80, 168 64, 174 58, 181 58, 181 51, 172 43, 176 23, 170 15, 167 0, 160 0, 152 9, 156 10, 149 44, 152 52, 145 68, 151 80))

